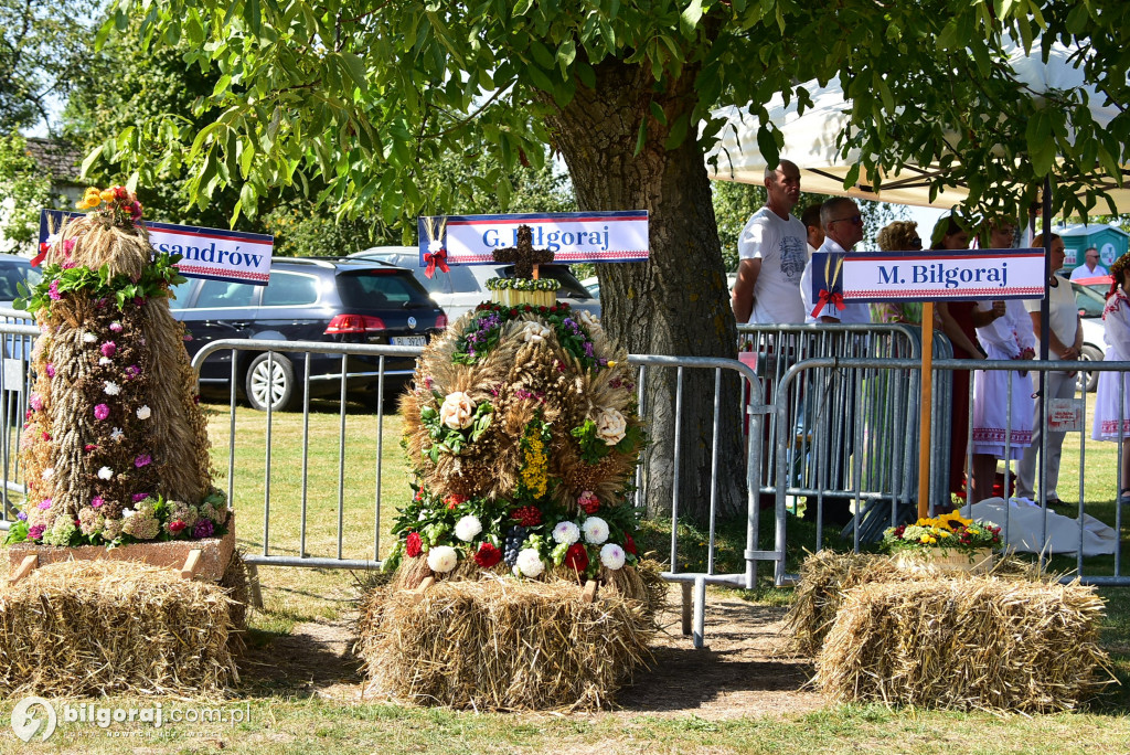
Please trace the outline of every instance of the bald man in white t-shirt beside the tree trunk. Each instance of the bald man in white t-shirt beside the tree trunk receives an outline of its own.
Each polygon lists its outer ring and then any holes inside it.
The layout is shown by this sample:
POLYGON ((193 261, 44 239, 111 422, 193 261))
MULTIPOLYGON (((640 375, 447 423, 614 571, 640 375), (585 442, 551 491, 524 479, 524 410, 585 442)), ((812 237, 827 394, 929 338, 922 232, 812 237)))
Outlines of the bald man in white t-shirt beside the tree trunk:
POLYGON ((790 212, 800 200, 800 168, 786 159, 765 171, 768 202, 738 237, 733 315, 738 323, 805 321, 800 276, 808 261, 808 233, 790 212))

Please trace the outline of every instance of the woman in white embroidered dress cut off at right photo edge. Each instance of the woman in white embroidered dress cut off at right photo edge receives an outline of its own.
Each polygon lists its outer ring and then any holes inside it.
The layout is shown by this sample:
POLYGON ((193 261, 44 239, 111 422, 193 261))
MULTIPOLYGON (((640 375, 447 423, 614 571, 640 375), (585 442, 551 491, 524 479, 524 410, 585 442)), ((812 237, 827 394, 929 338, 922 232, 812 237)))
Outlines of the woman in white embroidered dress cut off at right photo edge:
MULTIPOLYGON (((1130 253, 1123 254, 1111 266, 1111 292, 1106 295, 1103 324, 1106 333, 1105 362, 1130 361, 1130 253)), ((1098 392, 1095 394, 1095 425, 1090 436, 1096 441, 1119 442, 1122 434, 1122 479, 1119 480, 1119 501, 1130 502, 1130 373, 1098 373, 1098 392), (1121 411, 1120 411, 1120 406, 1121 411), (1119 419, 1121 418, 1121 422, 1119 419)))

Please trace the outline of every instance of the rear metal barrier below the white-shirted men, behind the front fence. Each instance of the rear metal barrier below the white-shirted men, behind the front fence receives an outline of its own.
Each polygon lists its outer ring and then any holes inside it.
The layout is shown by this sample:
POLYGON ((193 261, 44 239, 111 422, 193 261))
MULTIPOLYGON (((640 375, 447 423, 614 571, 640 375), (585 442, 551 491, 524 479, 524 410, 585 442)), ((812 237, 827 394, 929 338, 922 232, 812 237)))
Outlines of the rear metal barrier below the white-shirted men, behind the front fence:
MULTIPOLYGON (((824 543, 826 506, 838 512, 840 520, 850 515, 849 501, 857 497, 912 510, 918 500, 920 371, 855 374, 836 367, 844 359, 864 357, 914 359, 918 365, 921 329, 822 323, 740 326, 738 330, 741 358, 754 363, 765 381, 766 401, 784 407, 768 423, 759 492, 773 496, 783 488, 794 513, 805 505, 802 498, 815 505, 817 548, 824 543), (783 382, 794 364, 814 358, 825 359, 825 366, 783 382), (853 459, 863 463, 854 466, 853 459)), ((936 359, 953 357, 945 336, 936 335, 933 344, 936 359)), ((948 415, 950 401, 949 373, 940 373, 932 411, 948 415)), ((949 431, 948 423, 935 423, 931 445, 948 448, 949 431)), ((930 489, 940 495, 947 483, 945 474, 932 475, 930 489)))

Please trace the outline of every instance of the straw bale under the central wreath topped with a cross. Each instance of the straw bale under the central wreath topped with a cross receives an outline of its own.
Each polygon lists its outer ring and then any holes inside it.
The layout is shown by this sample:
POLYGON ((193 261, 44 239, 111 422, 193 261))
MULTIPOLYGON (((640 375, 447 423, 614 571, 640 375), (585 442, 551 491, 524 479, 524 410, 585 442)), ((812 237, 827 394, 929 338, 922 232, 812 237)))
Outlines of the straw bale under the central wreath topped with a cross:
POLYGON ((598 709, 650 659, 646 606, 576 583, 444 581, 416 596, 371 592, 356 652, 368 689, 476 710, 598 709))

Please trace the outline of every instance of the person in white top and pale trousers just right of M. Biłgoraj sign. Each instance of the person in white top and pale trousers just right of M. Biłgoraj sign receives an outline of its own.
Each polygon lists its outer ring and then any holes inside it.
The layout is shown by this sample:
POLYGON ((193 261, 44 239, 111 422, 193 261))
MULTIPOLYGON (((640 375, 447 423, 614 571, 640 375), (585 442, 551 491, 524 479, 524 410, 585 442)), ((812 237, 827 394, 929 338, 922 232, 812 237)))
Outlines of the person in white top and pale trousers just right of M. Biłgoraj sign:
MULTIPOLYGON (((1043 236, 1032 240, 1033 246, 1043 246, 1043 236)), ((1083 348, 1083 326, 1079 322, 1079 310, 1076 307, 1071 285, 1055 275, 1063 267, 1063 240, 1052 234, 1051 270, 1048 280, 1048 355, 1053 359, 1076 361, 1083 348)), ((1032 327, 1036 338, 1040 338, 1040 303, 1038 298, 1024 300, 1024 307, 1032 318, 1032 327)), ((1049 402, 1053 399, 1075 398, 1076 372, 1045 372, 1048 375, 1044 396, 1049 402)), ((1037 378, 1038 380, 1038 378, 1037 378)), ((1036 489, 1036 455, 1040 452, 1040 434, 1043 432, 1043 418, 1040 415, 1040 401, 1036 401, 1032 422, 1032 445, 1024 450, 1020 466, 1016 472, 1016 495, 1022 498, 1035 498, 1036 489)), ((1059 503, 1055 485, 1059 483, 1060 451, 1063 448, 1063 436, 1067 433, 1050 431, 1048 433, 1048 460, 1044 462, 1044 497, 1049 505, 1059 503)))

